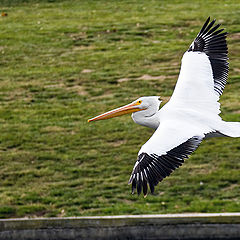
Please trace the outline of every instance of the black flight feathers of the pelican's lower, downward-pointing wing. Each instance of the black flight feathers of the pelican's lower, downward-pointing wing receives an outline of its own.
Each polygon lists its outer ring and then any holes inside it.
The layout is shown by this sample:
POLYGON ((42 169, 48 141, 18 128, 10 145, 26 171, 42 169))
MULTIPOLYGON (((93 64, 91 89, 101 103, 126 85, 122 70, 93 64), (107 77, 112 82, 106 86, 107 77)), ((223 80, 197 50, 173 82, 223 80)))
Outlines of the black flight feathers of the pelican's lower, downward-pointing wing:
POLYGON ((132 184, 132 194, 137 190, 138 195, 143 192, 146 197, 149 189, 154 194, 155 186, 180 167, 184 159, 197 149, 202 139, 194 136, 161 156, 141 153, 128 182, 132 184))

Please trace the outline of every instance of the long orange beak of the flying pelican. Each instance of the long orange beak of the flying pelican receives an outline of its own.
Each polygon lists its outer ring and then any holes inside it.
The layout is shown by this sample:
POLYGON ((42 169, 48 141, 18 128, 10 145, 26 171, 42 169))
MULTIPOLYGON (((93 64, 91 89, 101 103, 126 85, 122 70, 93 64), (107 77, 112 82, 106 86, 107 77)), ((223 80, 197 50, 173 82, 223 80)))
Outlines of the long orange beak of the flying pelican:
POLYGON ((127 114, 127 113, 133 113, 133 112, 145 110, 145 109, 140 109, 139 108, 140 104, 141 103, 139 103, 139 102, 130 103, 130 104, 125 105, 123 107, 116 108, 114 110, 103 113, 103 114, 101 114, 99 116, 96 116, 94 118, 91 118, 91 119, 88 120, 88 122, 109 119, 109 118, 118 117, 118 116, 121 116, 121 115, 124 115, 124 114, 127 114))

